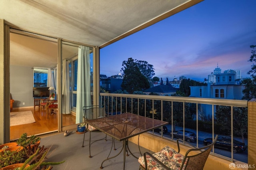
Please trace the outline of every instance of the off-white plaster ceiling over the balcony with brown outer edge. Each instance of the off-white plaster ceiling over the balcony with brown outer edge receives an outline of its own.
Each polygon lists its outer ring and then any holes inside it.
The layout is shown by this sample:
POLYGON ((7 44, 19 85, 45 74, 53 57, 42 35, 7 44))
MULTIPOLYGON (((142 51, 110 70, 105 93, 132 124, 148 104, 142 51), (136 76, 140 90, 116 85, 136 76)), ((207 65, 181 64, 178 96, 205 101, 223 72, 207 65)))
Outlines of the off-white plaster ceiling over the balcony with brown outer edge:
POLYGON ((1 0, 0 18, 13 28, 105 47, 201 1, 1 0))

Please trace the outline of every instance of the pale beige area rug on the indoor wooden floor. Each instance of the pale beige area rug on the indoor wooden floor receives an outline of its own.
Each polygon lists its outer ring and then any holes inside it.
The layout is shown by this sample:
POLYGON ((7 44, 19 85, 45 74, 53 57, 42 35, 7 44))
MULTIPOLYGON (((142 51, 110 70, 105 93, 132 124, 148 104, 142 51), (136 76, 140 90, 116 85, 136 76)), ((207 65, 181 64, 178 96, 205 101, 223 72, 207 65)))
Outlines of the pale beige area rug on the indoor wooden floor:
POLYGON ((36 122, 32 111, 11 112, 10 126, 24 125, 36 122))

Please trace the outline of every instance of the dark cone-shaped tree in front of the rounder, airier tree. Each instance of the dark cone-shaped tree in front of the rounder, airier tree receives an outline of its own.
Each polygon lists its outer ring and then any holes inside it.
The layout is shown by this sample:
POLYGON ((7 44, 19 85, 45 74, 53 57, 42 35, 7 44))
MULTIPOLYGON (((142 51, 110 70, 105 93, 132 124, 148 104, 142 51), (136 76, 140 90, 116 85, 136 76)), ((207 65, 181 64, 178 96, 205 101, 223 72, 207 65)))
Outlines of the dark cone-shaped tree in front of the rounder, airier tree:
POLYGON ((134 91, 142 91, 142 89, 148 89, 150 84, 148 79, 140 72, 137 64, 132 58, 128 61, 123 61, 124 79, 121 87, 128 93, 132 94, 134 91))

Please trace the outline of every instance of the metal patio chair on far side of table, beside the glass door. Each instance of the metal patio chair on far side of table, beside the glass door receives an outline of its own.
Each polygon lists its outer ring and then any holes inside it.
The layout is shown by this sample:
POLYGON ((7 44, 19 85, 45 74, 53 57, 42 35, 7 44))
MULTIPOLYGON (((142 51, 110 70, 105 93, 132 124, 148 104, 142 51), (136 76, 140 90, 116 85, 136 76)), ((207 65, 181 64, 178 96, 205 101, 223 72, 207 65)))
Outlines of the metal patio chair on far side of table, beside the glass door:
MULTIPOLYGON (((104 106, 84 106, 83 107, 84 110, 84 119, 85 120, 91 120, 91 119, 97 119, 100 117, 105 117, 105 109, 104 106)), ((98 141, 98 140, 107 140, 107 135, 104 138, 101 139, 97 139, 97 140, 91 140, 91 132, 101 132, 100 130, 92 127, 91 125, 86 124, 85 125, 85 130, 84 130, 84 136, 85 136, 85 132, 86 130, 90 132, 90 139, 89 139, 89 158, 91 158, 91 144, 93 144, 94 142, 98 141)), ((83 144, 82 147, 84 147, 84 140, 83 140, 83 144)))

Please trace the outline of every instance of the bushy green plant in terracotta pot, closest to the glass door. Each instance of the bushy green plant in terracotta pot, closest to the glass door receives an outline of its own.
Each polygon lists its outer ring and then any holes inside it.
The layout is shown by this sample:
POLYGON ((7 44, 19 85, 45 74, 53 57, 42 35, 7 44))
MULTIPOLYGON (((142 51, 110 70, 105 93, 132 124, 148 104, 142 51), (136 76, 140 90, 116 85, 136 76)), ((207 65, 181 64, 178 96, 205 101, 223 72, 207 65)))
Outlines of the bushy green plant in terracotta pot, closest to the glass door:
POLYGON ((30 138, 27 137, 27 133, 23 133, 20 138, 17 140, 17 143, 24 147, 27 148, 28 146, 30 146, 31 148, 35 147, 38 148, 39 144, 40 144, 40 137, 32 135, 30 136, 30 138))

